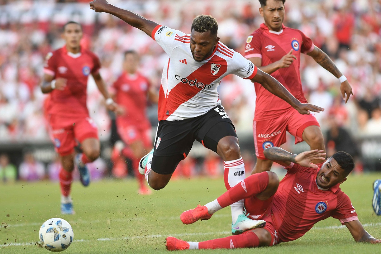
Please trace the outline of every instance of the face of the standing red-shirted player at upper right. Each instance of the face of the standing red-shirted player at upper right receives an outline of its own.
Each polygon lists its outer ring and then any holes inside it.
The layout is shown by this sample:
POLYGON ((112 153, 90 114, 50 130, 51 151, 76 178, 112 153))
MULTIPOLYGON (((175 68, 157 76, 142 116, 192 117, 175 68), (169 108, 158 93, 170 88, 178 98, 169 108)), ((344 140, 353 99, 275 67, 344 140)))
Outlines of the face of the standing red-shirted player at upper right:
POLYGON ((264 23, 271 31, 282 30, 283 19, 285 18, 285 6, 280 0, 267 0, 266 6, 259 8, 259 13, 264 18, 264 23))

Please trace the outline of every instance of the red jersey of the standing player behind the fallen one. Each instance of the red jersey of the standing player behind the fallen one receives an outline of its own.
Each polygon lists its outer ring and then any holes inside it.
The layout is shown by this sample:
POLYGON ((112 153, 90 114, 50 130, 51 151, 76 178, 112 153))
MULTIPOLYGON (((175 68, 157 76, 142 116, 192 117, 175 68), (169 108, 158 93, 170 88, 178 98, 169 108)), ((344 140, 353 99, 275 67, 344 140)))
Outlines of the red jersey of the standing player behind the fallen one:
MULTIPOLYGON (((296 56, 296 60, 288 68, 278 69, 271 76, 284 85, 295 98, 306 103, 300 79, 300 54, 309 53, 314 49, 312 40, 298 29, 283 25, 280 32, 275 32, 269 31, 265 24, 261 24, 261 27, 254 31, 246 42, 245 57, 262 58, 262 66, 279 61, 293 49, 292 54, 296 56)), ((267 91, 261 84, 254 83, 254 85, 257 95, 255 121, 272 119, 282 114, 283 109, 291 107, 286 101, 267 91)))

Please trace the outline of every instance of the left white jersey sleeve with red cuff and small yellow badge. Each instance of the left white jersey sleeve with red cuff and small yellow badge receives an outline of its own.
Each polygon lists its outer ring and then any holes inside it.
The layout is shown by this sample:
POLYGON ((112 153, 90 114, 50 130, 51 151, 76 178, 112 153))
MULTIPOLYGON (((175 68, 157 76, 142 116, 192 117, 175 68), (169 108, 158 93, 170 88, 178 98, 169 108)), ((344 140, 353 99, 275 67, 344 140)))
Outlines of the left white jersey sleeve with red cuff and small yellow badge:
POLYGON ((158 25, 152 31, 152 39, 154 39, 160 47, 163 48, 168 56, 171 55, 173 49, 178 45, 176 38, 182 38, 186 34, 179 30, 169 28, 167 26, 158 25))

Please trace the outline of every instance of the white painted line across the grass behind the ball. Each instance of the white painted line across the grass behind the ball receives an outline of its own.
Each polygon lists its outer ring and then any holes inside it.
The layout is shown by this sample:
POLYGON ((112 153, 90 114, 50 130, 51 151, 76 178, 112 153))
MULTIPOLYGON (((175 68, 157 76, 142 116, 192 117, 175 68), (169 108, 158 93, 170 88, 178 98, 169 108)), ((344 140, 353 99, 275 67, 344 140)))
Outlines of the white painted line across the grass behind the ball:
MULTIPOLYGON (((381 222, 378 223, 366 223, 363 224, 364 227, 379 227, 381 225, 381 222)), ((313 227, 311 230, 323 230, 323 229, 343 229, 346 228, 344 225, 340 226, 328 226, 328 227, 313 227)), ((176 237, 182 237, 182 236, 202 236, 202 235, 230 235, 231 231, 220 231, 220 232, 204 232, 204 233, 181 233, 181 234, 170 234, 171 236, 176 237)), ((120 241, 120 240, 133 240, 133 239, 142 239, 142 238, 160 238, 160 237, 166 237, 169 235, 138 235, 138 236, 126 236, 121 238, 98 238, 95 241, 120 241)), ((73 242, 90 242, 94 240, 85 240, 85 239, 78 239, 73 240, 73 242)), ((6 245, 3 245, 3 247, 9 247, 9 246, 27 246, 27 245, 34 245, 35 243, 7 243, 6 245)))

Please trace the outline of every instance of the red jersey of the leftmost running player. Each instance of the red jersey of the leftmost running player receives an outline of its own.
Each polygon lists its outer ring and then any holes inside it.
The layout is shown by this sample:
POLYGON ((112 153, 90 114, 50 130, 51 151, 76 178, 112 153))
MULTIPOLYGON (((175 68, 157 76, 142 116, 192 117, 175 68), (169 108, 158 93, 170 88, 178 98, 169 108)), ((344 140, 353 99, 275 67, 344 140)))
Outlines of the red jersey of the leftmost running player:
POLYGON ((67 79, 63 91, 50 93, 49 114, 64 117, 88 117, 86 106, 87 79, 101 68, 98 57, 91 51, 81 48, 80 53, 67 51, 66 46, 48 53, 44 73, 57 78, 67 79))

